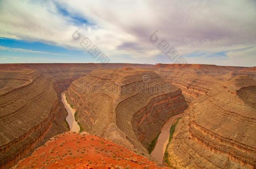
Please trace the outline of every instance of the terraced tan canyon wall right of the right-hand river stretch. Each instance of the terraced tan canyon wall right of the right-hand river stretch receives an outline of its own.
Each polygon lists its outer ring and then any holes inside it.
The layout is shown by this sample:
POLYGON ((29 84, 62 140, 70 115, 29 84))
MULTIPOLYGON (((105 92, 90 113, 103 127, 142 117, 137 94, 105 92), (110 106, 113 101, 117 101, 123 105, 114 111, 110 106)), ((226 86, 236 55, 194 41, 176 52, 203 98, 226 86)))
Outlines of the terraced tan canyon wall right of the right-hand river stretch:
POLYGON ((223 72, 216 68, 215 73, 202 71, 204 77, 189 77, 190 81, 194 79, 207 88, 207 93, 191 99, 175 128, 167 148, 172 166, 256 167, 256 81, 255 73, 245 70, 223 72))

